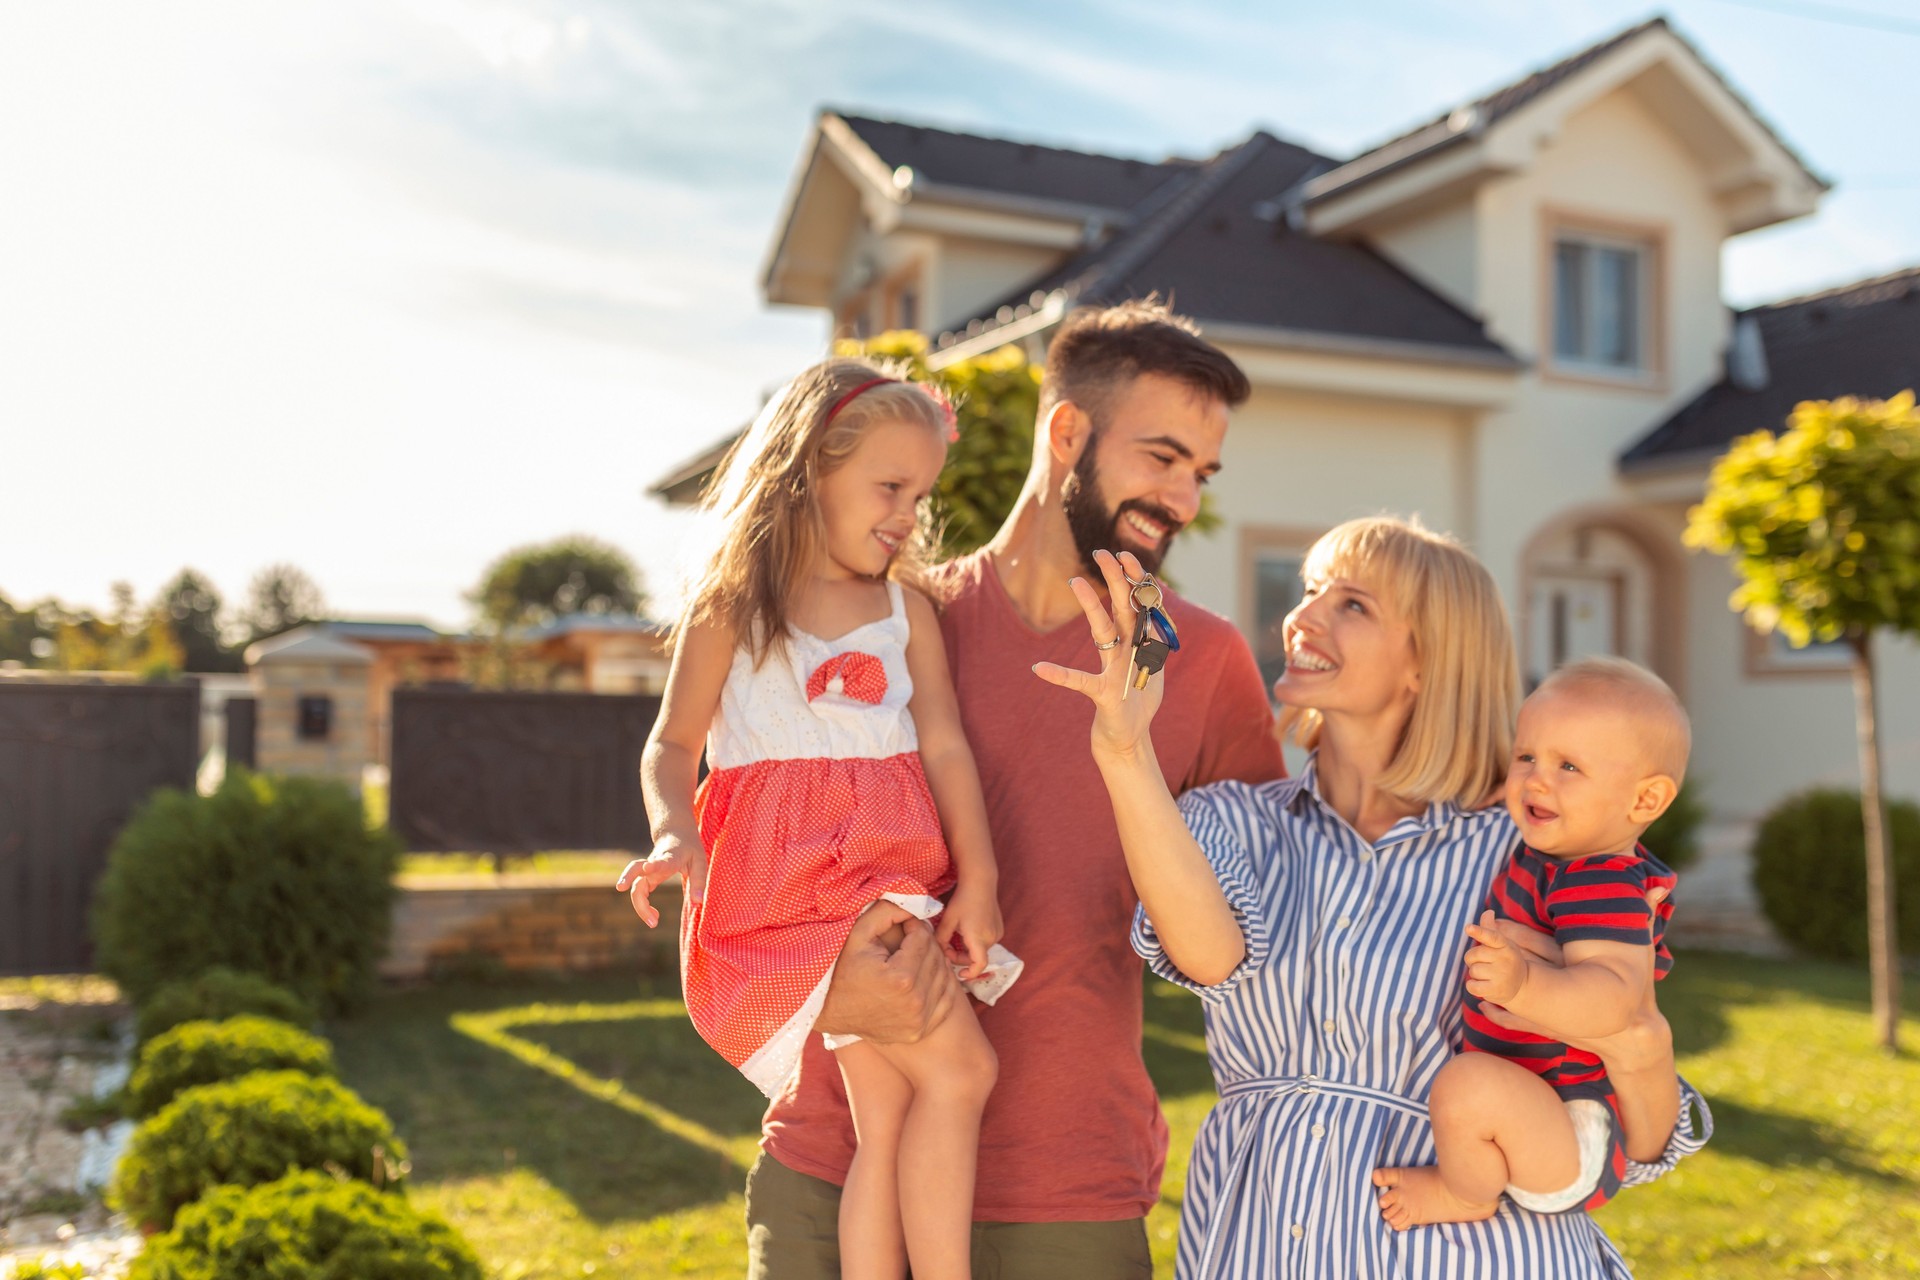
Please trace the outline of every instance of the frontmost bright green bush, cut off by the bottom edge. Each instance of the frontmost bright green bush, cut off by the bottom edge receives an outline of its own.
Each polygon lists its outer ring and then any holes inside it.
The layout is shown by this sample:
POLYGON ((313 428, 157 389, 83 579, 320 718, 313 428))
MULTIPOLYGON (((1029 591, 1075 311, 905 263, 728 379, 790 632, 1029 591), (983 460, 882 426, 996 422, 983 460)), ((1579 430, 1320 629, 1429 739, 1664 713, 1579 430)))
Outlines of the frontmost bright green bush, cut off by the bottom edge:
POLYGON ((188 1205, 129 1280, 480 1280, 480 1259, 399 1196, 296 1173, 188 1205))

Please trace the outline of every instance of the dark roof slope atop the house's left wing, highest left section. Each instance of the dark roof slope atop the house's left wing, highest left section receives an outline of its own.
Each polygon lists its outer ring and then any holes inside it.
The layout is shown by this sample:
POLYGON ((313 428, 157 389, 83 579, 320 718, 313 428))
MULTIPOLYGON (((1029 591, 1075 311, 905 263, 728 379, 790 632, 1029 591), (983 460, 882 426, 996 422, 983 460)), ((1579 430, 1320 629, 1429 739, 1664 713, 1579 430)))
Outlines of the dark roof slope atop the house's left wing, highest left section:
POLYGON ((1054 200, 1123 213, 1169 180, 1190 175, 1190 159, 1144 161, 1010 138, 931 129, 831 111, 847 121, 889 169, 916 178, 1000 196, 1054 200))

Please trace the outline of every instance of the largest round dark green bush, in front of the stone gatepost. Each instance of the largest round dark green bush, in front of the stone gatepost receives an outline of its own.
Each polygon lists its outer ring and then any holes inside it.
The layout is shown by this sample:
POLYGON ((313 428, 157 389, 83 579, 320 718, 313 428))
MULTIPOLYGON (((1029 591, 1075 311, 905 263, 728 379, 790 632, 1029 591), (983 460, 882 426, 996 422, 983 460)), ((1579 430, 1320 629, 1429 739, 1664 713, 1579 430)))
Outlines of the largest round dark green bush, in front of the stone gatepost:
POLYGON ((346 1009, 372 986, 397 862, 342 783, 236 770, 211 796, 156 793, 108 854, 98 963, 134 1004, 227 965, 346 1009))

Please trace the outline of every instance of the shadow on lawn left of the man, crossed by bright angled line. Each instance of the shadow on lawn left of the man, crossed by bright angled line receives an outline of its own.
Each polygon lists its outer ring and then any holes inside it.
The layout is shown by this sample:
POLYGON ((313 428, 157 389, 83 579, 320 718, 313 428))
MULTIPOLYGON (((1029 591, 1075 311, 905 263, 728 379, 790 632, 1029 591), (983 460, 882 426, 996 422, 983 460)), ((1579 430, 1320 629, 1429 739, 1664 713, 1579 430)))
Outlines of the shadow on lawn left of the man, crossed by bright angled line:
POLYGON ((346 1082, 407 1138, 415 1180, 528 1167, 611 1222, 735 1196, 753 1157, 758 1090, 674 1006, 672 983, 442 986, 330 1031, 346 1082))

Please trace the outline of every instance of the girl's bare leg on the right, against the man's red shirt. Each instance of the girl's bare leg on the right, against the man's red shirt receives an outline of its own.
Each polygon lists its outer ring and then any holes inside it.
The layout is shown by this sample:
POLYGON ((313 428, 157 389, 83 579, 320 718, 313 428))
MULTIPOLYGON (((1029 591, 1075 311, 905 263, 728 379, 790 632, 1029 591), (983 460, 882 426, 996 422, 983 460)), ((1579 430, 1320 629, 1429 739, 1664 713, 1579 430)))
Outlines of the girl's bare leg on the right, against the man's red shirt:
MULTIPOLYGON (((914 1280, 968 1280, 979 1113, 1000 1063, 964 1000, 918 1044, 870 1048, 912 1086, 899 1136, 899 1171, 900 1224, 914 1280)), ((860 1146, 866 1148, 864 1134, 860 1146)), ((845 1221, 841 1217, 843 1261, 845 1221)))

